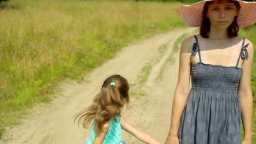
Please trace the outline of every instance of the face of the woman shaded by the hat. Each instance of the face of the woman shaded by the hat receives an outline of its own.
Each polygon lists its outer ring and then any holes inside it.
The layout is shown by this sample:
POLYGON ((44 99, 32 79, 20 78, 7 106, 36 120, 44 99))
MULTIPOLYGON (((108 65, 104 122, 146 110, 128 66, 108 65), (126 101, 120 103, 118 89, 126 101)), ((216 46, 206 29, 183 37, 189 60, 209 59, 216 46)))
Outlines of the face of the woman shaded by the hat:
POLYGON ((210 19, 211 26, 228 28, 237 16, 236 4, 229 1, 214 1, 208 5, 206 16, 210 19))

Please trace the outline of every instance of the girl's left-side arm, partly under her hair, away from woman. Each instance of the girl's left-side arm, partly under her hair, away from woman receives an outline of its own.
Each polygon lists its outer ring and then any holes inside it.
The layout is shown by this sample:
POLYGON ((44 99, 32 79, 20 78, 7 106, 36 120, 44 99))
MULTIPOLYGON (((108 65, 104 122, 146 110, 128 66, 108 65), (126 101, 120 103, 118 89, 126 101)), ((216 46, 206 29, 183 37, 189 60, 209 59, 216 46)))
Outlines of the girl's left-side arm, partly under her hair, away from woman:
POLYGON ((95 139, 94 139, 94 144, 102 144, 104 137, 106 135, 106 133, 108 132, 109 129, 109 122, 106 122, 102 125, 102 129, 98 128, 98 123, 96 123, 95 125, 95 139))

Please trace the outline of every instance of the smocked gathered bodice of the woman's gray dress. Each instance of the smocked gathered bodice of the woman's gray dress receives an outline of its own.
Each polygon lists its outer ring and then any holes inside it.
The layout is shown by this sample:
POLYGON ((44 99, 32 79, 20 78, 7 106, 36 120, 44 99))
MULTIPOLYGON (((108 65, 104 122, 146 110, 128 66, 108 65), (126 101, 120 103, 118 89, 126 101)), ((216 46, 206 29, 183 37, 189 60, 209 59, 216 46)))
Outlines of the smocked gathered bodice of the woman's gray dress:
POLYGON ((196 63, 191 65, 192 89, 236 93, 241 73, 237 67, 196 63))

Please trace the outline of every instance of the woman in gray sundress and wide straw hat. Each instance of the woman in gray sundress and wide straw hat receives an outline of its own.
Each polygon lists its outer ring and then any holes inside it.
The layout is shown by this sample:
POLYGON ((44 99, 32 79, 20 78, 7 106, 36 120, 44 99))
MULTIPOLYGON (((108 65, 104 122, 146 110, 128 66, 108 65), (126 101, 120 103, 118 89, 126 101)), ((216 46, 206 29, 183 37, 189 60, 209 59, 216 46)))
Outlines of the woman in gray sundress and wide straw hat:
POLYGON ((256 3, 201 1, 181 14, 200 34, 181 46, 179 77, 167 143, 252 144, 253 44, 237 36, 256 22, 256 3), (192 81, 192 88, 189 81, 192 81))

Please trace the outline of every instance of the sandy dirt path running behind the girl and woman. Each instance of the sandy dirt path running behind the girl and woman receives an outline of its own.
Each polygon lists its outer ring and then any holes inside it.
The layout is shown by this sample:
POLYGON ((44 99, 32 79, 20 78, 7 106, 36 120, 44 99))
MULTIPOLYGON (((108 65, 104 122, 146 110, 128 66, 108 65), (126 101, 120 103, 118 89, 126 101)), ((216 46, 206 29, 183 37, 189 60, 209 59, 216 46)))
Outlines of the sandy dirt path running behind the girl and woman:
MULTIPOLYGON (((30 110, 32 114, 22 121, 23 124, 9 128, 0 143, 84 143, 89 129, 78 127, 71 117, 90 105, 104 79, 112 74, 120 74, 130 83, 136 83, 131 86, 131 91, 135 92, 131 94, 131 106, 123 111, 126 120, 164 142, 170 125, 171 104, 178 74, 179 53, 173 53, 172 47, 179 36, 193 31, 175 29, 124 47, 115 58, 87 75, 84 82, 63 84, 56 99, 50 104, 41 104, 30 110), (162 45, 167 45, 167 50, 159 57, 158 49, 162 45), (170 56, 174 62, 167 61, 170 56), (148 81, 140 85, 138 79, 141 69, 156 58, 158 62, 153 65, 148 81), (146 95, 136 94, 141 91, 146 95)), ((123 140, 127 143, 142 143, 126 131, 123 131, 123 140)))

